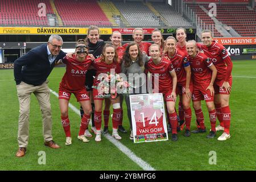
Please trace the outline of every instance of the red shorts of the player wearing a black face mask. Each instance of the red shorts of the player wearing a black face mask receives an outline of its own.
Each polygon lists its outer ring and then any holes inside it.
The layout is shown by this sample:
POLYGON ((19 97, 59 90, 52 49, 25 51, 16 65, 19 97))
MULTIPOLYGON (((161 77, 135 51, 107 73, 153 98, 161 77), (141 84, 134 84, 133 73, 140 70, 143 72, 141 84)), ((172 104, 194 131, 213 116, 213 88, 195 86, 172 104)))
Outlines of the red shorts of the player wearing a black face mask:
POLYGON ((60 88, 59 99, 64 99, 69 101, 72 93, 75 95, 77 102, 90 100, 89 94, 87 93, 85 88, 82 90, 77 90, 75 92, 74 91, 71 92, 69 90, 60 88))

